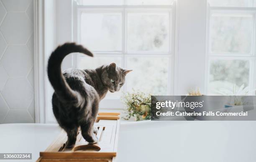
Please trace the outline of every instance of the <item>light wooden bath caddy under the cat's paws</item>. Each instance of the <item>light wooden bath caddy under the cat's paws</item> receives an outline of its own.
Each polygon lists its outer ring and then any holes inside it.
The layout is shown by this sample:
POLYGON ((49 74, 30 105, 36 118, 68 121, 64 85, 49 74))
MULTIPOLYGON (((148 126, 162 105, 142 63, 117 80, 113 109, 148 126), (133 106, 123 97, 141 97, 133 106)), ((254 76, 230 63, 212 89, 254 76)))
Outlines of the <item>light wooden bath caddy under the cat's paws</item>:
POLYGON ((59 136, 44 151, 37 162, 115 162, 120 127, 120 113, 98 113, 96 123, 97 144, 88 144, 81 135, 72 149, 67 149, 67 133, 62 130, 59 136))

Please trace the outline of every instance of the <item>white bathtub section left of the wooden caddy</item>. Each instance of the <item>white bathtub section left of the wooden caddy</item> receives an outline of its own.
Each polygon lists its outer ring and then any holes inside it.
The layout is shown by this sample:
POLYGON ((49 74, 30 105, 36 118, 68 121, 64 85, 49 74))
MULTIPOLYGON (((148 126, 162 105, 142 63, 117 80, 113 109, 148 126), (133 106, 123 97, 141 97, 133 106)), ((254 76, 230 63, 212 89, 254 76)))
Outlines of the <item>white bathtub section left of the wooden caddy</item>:
POLYGON ((51 144, 60 130, 57 124, 0 124, 0 153, 32 153, 32 160, 20 161, 35 162, 39 152, 51 144))

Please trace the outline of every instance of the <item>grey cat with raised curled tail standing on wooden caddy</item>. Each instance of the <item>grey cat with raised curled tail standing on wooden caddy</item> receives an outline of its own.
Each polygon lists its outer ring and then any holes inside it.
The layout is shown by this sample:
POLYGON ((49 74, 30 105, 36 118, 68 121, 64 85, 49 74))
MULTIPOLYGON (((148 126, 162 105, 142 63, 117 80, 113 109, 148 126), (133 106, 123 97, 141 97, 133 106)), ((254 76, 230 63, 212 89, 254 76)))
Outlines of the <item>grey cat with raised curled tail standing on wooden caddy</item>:
POLYGON ((125 83, 125 76, 131 70, 124 70, 110 63, 95 70, 69 69, 61 73, 61 62, 69 53, 93 54, 81 45, 65 43, 51 53, 48 61, 48 77, 54 88, 52 106, 60 127, 67 132, 66 147, 72 148, 77 131, 89 143, 96 143, 93 133, 99 102, 107 92, 119 91, 125 83))

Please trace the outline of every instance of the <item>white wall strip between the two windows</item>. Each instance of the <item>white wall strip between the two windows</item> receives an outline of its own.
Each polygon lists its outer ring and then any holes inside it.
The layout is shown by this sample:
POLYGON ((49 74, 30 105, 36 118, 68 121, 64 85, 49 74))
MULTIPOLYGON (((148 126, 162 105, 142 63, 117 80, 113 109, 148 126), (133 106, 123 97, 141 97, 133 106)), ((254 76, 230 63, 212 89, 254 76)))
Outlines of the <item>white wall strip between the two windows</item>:
POLYGON ((204 94, 207 0, 179 0, 177 4, 174 94, 184 95, 195 88, 204 94))

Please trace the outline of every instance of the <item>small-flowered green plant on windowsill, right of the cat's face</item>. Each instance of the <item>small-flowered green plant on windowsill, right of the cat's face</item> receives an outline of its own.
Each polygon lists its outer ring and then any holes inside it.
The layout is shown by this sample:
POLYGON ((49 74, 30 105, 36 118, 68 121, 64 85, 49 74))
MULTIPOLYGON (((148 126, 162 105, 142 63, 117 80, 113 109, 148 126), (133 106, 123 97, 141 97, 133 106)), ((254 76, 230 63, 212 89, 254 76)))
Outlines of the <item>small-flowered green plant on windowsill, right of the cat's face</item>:
POLYGON ((140 91, 133 91, 123 96, 125 104, 125 113, 127 114, 124 119, 128 120, 132 116, 136 121, 151 119, 151 95, 145 94, 140 91))

